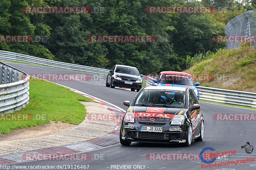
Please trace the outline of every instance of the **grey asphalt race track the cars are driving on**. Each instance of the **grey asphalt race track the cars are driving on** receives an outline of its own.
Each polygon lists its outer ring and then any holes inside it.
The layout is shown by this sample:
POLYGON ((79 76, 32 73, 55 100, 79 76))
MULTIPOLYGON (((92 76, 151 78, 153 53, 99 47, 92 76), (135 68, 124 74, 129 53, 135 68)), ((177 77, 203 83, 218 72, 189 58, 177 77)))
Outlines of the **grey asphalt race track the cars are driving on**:
MULTIPOLYGON (((82 72, 17 64, 17 63, 7 63, 13 67, 16 67, 28 74, 83 74, 82 72)), ((90 74, 92 77, 93 74, 90 74)), ((97 78, 97 76, 95 76, 97 78)), ((132 92, 124 89, 112 89, 105 86, 106 76, 102 76, 102 79, 95 79, 92 81, 53 81, 77 90, 80 90, 89 95, 95 96, 102 100, 113 103, 123 109, 127 109, 123 105, 124 100, 130 100, 134 98, 137 92, 132 92)), ((200 151, 205 147, 212 147, 218 152, 228 152, 236 150, 236 154, 229 155, 225 157, 219 157, 215 162, 220 163, 221 161, 235 161, 240 159, 256 158, 254 149, 251 154, 247 154, 244 149, 241 149, 242 145, 246 142, 256 147, 256 124, 255 121, 215 121, 213 120, 213 115, 216 113, 238 113, 238 114, 250 114, 256 113, 256 110, 237 108, 225 105, 218 105, 212 103, 200 103, 203 115, 204 115, 204 140, 202 142, 194 142, 190 147, 182 147, 180 145, 166 145, 166 144, 144 144, 144 143, 132 143, 130 146, 122 146, 120 144, 104 147, 101 149, 92 150, 86 153, 92 155, 92 159, 88 161, 25 161, 8 164, 9 166, 15 165, 16 169, 28 169, 18 168, 17 166, 55 166, 66 165, 66 169, 74 169, 75 165, 89 165, 88 169, 94 170, 108 170, 117 169, 113 165, 131 165, 131 169, 202 169, 201 160, 188 160, 188 158, 183 158, 184 160, 148 160, 146 155, 148 153, 172 153, 173 156, 176 153, 200 153, 200 151), (102 155, 101 159, 97 159, 98 155, 102 155), (96 158, 96 159, 95 159, 96 158), (70 166, 68 168, 68 165, 70 166), (112 166, 111 166, 112 165, 112 166), (142 165, 141 168, 137 165, 142 165), (72 167, 73 166, 73 167, 72 167), (133 168, 134 166, 134 168, 133 168), (137 166, 137 168, 135 167, 137 166), (144 167, 145 166, 145 167, 144 167)), ((177 156, 177 155, 176 155, 177 156)), ((163 157, 166 158, 166 157, 163 157)), ((177 157, 176 157, 177 158, 177 157)), ((214 163, 215 163, 214 162, 214 163)), ((3 168, 2 168, 3 169, 3 168)), ((34 168, 36 169, 36 168, 34 168)), ((65 169, 65 168, 64 168, 65 169)), ((77 168, 76 168, 77 169, 77 168)), ((80 168, 81 169, 81 168, 80 168)), ((118 169, 125 169, 120 168, 118 169)), ((240 163, 238 165, 226 165, 218 167, 208 167, 207 169, 226 169, 226 170, 236 170, 236 169, 256 169, 256 162, 240 163)))

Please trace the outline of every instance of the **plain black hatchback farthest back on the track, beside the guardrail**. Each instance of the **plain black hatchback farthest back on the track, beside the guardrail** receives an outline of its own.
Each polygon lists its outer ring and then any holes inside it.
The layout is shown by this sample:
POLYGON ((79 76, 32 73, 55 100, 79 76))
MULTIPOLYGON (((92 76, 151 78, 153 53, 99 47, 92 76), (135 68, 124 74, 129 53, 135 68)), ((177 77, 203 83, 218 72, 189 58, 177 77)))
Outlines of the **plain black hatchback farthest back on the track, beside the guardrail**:
POLYGON ((131 88, 131 91, 139 91, 142 87, 142 74, 136 67, 115 65, 107 75, 106 86, 115 88, 125 87, 131 88))

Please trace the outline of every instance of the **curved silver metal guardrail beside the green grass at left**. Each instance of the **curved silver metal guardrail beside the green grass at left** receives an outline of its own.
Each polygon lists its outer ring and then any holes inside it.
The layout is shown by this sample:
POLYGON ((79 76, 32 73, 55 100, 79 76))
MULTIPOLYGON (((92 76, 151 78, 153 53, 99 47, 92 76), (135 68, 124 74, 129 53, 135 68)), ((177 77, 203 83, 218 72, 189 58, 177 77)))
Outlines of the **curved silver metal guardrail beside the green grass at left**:
POLYGON ((29 75, 0 62, 0 115, 20 110, 29 100, 29 75))

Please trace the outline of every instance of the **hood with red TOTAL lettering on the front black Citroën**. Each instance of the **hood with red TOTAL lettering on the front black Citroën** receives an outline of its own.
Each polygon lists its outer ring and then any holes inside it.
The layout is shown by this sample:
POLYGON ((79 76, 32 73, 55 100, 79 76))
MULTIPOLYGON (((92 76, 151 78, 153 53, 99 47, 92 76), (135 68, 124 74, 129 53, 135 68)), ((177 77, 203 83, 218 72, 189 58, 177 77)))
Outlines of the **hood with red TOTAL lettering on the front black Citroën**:
POLYGON ((159 117, 159 118, 173 118, 175 115, 186 114, 188 109, 180 108, 164 108, 164 107, 143 107, 131 106, 128 112, 135 112, 135 117, 159 117))

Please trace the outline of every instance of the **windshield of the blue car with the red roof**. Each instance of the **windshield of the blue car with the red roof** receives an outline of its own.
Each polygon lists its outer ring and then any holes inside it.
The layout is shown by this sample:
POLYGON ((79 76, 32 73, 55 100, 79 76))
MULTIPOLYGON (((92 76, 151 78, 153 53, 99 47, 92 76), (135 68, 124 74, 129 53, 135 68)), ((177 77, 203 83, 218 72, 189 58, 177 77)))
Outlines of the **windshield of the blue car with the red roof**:
POLYGON ((163 84, 179 84, 194 86, 191 76, 189 75, 176 75, 176 74, 162 74, 159 83, 163 84), (174 81, 173 81, 174 79, 174 81))

